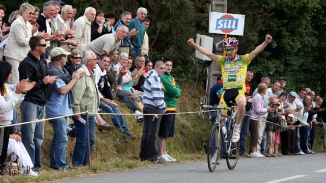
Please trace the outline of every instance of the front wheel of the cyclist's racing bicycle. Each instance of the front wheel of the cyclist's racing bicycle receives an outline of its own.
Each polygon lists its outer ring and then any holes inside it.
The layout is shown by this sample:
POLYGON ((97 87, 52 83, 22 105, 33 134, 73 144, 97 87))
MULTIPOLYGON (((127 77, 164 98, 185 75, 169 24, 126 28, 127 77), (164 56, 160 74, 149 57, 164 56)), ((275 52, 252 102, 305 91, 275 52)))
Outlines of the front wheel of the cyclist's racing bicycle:
POLYGON ((207 147, 207 164, 210 172, 213 172, 216 165, 220 162, 221 138, 216 132, 219 130, 219 124, 215 123, 211 129, 207 147))

